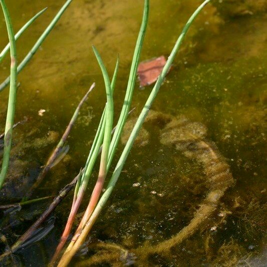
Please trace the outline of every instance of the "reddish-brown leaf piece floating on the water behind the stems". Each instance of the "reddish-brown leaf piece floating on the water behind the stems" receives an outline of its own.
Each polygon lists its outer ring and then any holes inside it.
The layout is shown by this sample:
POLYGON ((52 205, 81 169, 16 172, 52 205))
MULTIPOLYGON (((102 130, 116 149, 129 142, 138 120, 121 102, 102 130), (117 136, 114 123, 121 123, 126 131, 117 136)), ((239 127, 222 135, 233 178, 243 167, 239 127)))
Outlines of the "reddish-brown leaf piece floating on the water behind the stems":
POLYGON ((156 82, 165 64, 166 59, 164 56, 141 62, 137 70, 140 86, 156 82))

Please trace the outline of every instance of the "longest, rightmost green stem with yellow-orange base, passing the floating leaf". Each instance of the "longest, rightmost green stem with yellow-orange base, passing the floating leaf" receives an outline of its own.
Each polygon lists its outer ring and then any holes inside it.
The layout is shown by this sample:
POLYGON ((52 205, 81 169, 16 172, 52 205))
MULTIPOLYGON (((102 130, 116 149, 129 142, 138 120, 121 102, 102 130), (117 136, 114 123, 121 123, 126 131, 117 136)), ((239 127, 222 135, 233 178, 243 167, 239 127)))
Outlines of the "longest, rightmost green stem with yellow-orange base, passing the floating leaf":
POLYGON ((109 184, 107 186, 106 191, 103 193, 102 197, 100 198, 96 208, 94 209, 94 212, 92 213, 90 219, 86 222, 85 227, 83 228, 81 234, 79 235, 78 239, 76 240, 76 242, 73 244, 71 243, 70 246, 66 249, 63 257, 61 258, 58 266, 63 267, 63 266, 67 266, 69 264, 69 262, 71 261, 72 257, 74 256, 74 254, 78 251, 78 249, 80 248, 80 246, 83 244, 83 242, 85 241, 89 231, 91 230, 93 224, 95 223, 96 219, 98 218, 103 206, 105 205, 105 203, 107 202, 109 196, 111 195, 116 182, 120 176, 120 173, 122 171, 122 168, 125 164, 125 161, 130 153, 130 150, 133 146, 133 143, 138 135, 138 132, 140 130, 140 128, 142 127, 142 124, 147 116, 147 113, 160 89, 161 84, 163 83, 163 80, 175 58, 175 55, 177 54, 182 41, 185 37, 185 34, 187 33, 188 29, 190 28, 192 22, 194 21, 194 19, 197 17, 197 15, 199 14, 199 12, 204 8, 204 6, 210 2, 210 0, 205 0, 197 9, 196 11, 193 13, 193 15, 190 17, 190 19, 188 20, 188 22, 186 23, 186 25, 184 26, 181 35, 178 37, 174 48, 170 54, 170 56, 168 57, 168 60, 161 72, 161 74, 158 77, 158 80, 155 84, 155 86, 153 87, 147 101, 146 104, 143 108, 143 110, 141 111, 138 120, 132 130, 132 133, 125 145, 125 148, 120 156, 120 159, 116 165, 116 168, 113 172, 113 175, 109 181, 109 184))

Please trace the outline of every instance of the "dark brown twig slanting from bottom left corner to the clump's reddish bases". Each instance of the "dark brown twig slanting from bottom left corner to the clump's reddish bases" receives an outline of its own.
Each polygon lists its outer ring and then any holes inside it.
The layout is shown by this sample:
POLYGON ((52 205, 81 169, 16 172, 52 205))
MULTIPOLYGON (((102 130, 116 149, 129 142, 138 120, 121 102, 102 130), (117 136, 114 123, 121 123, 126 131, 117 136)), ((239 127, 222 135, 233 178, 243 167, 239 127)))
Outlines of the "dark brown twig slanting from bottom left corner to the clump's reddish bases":
POLYGON ((54 198, 53 202, 49 205, 49 207, 35 221, 35 223, 32 224, 32 226, 17 240, 17 242, 11 247, 11 249, 0 255, 0 260, 3 260, 6 256, 12 254, 23 246, 23 243, 33 235, 33 233, 50 216, 50 214, 55 210, 55 208, 60 204, 60 202, 66 197, 66 195, 75 187, 75 184, 79 180, 83 171, 84 169, 82 169, 81 172, 59 192, 59 195, 54 198))

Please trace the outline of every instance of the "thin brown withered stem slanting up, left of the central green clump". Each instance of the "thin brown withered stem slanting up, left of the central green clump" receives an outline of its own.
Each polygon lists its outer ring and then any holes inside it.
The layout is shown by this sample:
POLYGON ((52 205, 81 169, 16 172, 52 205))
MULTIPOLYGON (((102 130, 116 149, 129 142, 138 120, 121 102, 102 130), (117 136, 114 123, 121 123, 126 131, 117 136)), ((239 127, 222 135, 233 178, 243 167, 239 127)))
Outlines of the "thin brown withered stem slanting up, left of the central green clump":
POLYGON ((48 173, 48 171, 54 166, 53 164, 55 163, 55 160, 58 158, 58 156, 60 155, 61 151, 64 148, 64 144, 70 134, 70 131, 78 117, 78 114, 80 112, 80 109, 83 105, 83 103, 86 101, 89 93, 95 88, 95 83, 93 83, 90 87, 90 89, 88 90, 88 92, 85 94, 85 96, 83 97, 83 99, 80 101, 78 107, 76 108, 68 127, 66 128, 64 134, 62 135, 58 145, 56 146, 56 148, 54 149, 54 151, 52 152, 51 156, 49 157, 46 165, 43 167, 42 171, 40 172, 40 174, 38 175, 36 182, 34 183, 34 185, 32 186, 31 190, 29 190, 27 196, 29 197, 30 195, 32 195, 33 191, 40 185, 40 183, 42 182, 42 180, 44 179, 44 177, 46 176, 46 174, 48 173))

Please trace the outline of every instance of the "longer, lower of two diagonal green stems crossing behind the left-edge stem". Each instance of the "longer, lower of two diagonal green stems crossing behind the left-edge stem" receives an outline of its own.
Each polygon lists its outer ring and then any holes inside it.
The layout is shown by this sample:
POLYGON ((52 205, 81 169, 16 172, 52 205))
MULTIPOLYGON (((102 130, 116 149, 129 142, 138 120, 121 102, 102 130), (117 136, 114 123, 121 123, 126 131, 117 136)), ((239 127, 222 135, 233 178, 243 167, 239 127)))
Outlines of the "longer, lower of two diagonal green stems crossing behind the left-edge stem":
MULTIPOLYGON (((67 0, 66 3, 62 6, 60 11, 57 13, 57 15, 54 17, 52 22, 49 24, 49 26, 46 28, 46 30, 43 32, 43 34, 40 36, 40 38, 37 40, 33 48, 30 50, 30 52, 26 55, 24 60, 21 62, 21 64, 18 66, 18 73, 20 73, 24 67, 29 63, 29 61, 32 59, 34 54, 37 52, 39 47, 42 45, 46 37, 50 34, 52 29, 55 27, 56 23, 61 18, 64 11, 68 8, 68 6, 71 4, 72 0, 67 0)), ((4 90, 4 88, 10 83, 11 76, 9 76, 2 84, 0 84, 0 92, 4 90)))

